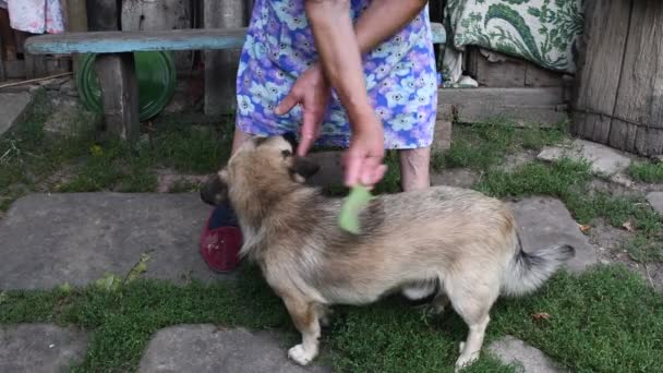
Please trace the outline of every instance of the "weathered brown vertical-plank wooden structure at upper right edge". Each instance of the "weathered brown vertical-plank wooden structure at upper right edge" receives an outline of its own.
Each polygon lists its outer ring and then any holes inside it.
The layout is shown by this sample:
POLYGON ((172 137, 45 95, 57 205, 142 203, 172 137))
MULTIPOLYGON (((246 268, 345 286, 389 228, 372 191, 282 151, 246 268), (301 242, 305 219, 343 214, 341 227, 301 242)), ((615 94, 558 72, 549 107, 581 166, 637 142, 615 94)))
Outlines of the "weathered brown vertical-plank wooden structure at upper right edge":
POLYGON ((663 154, 663 2, 587 0, 572 132, 663 154))

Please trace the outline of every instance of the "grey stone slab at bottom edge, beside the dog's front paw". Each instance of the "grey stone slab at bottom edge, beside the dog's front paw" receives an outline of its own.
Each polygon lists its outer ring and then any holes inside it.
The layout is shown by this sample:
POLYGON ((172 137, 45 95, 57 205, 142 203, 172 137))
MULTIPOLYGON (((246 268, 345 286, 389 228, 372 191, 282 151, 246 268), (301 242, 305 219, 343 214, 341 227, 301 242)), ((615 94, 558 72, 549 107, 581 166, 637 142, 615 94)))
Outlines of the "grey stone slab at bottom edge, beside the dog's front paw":
POLYGON ((312 363, 302 368, 287 357, 277 335, 215 325, 180 325, 159 330, 145 351, 140 373, 299 373, 330 372, 312 363))

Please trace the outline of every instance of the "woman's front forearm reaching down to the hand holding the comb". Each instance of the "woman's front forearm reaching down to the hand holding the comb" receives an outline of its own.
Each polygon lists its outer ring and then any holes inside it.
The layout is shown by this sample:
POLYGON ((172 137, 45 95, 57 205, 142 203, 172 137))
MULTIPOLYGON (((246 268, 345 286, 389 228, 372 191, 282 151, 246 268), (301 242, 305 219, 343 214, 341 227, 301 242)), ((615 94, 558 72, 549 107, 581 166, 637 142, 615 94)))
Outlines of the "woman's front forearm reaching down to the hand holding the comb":
POLYGON ((346 107, 351 125, 374 116, 364 83, 358 38, 350 19, 349 0, 306 0, 315 46, 329 84, 346 107))

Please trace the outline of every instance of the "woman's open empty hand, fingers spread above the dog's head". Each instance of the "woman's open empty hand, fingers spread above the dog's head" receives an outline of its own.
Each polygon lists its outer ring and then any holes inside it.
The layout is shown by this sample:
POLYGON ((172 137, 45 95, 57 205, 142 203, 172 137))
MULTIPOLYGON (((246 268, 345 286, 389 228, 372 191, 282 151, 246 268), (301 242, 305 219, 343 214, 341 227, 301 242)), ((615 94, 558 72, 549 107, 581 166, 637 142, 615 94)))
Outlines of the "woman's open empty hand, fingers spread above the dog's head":
POLYGON ((322 68, 316 63, 297 79, 288 96, 276 108, 276 113, 282 116, 292 110, 296 105, 302 106, 301 141, 297 148, 299 156, 306 155, 320 136, 330 97, 332 88, 325 80, 322 68))

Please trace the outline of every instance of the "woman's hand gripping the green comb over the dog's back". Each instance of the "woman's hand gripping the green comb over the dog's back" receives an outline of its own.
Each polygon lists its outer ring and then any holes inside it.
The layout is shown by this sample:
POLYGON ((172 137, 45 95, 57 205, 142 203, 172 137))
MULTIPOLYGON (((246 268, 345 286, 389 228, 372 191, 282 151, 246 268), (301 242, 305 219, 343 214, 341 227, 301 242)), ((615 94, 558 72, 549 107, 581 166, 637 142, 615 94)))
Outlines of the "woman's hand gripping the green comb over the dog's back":
POLYGON ((385 156, 384 131, 382 123, 373 110, 364 115, 353 116, 354 130, 350 147, 343 155, 346 169, 346 185, 362 184, 373 186, 385 176, 387 166, 383 164, 385 156))

